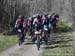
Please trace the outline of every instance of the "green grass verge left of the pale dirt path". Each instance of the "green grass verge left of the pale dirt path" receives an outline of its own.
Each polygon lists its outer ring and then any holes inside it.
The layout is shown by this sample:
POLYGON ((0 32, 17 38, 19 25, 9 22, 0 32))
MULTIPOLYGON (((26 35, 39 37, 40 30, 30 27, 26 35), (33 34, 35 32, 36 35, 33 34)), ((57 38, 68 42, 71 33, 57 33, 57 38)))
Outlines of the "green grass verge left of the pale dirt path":
POLYGON ((0 51, 5 50, 6 48, 17 43, 16 35, 12 36, 0 36, 0 51))

